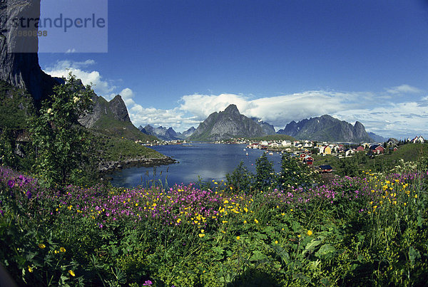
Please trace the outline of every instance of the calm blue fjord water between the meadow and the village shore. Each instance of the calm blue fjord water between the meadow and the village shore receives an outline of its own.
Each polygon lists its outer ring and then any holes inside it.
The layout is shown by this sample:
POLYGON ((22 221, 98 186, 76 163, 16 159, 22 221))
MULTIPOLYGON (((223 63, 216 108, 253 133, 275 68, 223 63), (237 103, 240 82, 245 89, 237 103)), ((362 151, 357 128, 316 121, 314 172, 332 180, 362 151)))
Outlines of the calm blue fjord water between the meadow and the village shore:
MULTIPOLYGON (((178 160, 173 165, 158 167, 131 167, 109 174, 115 187, 136 187, 150 182, 168 182, 174 184, 189 184, 212 180, 225 180, 226 173, 233 172, 242 160, 250 172, 255 173, 255 161, 262 155, 263 150, 245 149, 245 145, 215 145, 209 143, 192 143, 186 145, 161 145, 153 150, 178 160), (246 155, 248 152, 248 155, 246 155)), ((281 155, 274 152, 267 155, 274 163, 275 170, 280 170, 281 155)))

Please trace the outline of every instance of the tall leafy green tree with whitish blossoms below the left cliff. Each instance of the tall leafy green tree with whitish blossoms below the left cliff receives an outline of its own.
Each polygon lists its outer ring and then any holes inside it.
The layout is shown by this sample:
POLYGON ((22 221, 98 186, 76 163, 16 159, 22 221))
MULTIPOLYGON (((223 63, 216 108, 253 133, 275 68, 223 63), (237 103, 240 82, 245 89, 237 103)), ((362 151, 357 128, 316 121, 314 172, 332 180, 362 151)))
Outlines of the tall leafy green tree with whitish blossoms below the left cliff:
POLYGON ((34 172, 49 184, 65 184, 88 159, 88 132, 78 118, 90 111, 92 95, 91 87, 83 87, 70 73, 66 83, 57 85, 54 95, 42 103, 39 115, 30 119, 34 172))

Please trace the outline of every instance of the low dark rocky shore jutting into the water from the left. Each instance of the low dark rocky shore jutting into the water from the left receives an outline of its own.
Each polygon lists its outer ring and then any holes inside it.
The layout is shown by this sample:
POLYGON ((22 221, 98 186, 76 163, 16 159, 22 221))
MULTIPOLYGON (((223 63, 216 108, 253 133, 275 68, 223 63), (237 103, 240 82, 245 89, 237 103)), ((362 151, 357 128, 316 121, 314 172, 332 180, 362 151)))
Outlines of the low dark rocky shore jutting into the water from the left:
POLYGON ((154 167, 157 165, 170 165, 177 160, 174 160, 170 157, 160 157, 160 158, 146 158, 146 157, 136 157, 126 160, 118 161, 102 161, 98 163, 98 171, 101 173, 113 172, 118 169, 124 169, 128 167, 154 167))

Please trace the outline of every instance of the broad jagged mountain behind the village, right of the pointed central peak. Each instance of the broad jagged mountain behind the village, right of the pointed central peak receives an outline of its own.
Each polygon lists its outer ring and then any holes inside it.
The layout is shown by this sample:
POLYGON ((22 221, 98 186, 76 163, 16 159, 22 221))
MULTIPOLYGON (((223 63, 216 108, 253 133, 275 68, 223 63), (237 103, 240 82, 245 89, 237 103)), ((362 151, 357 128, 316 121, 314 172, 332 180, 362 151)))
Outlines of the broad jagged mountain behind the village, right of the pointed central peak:
POLYGON ((330 142, 370 142, 372 139, 367 134, 361 122, 351 125, 344 120, 338 120, 330 115, 322 115, 309 120, 294 120, 287 124, 278 134, 291 135, 298 140, 319 140, 330 142))

